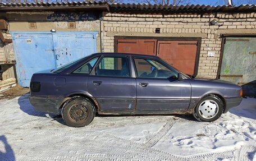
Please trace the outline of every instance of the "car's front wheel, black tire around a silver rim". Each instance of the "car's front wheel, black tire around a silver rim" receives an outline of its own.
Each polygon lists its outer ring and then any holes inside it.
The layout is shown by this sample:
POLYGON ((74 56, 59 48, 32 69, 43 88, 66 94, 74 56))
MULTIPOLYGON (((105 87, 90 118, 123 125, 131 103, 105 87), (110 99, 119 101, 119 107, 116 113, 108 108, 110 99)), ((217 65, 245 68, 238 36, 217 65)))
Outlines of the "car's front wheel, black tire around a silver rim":
MULTIPOLYGON (((198 121, 205 121, 205 122, 212 122, 216 121, 216 119, 221 117, 221 114, 223 113, 224 105, 220 98, 218 98, 216 95, 208 95, 202 98, 199 103, 196 105, 193 111, 193 116, 198 119, 198 121), (211 105, 207 106, 205 103, 211 103, 214 107, 216 105, 216 109, 211 109, 211 105), (204 116, 204 113, 213 113, 213 116, 204 116)), ((209 114, 210 115, 210 114, 209 114)))

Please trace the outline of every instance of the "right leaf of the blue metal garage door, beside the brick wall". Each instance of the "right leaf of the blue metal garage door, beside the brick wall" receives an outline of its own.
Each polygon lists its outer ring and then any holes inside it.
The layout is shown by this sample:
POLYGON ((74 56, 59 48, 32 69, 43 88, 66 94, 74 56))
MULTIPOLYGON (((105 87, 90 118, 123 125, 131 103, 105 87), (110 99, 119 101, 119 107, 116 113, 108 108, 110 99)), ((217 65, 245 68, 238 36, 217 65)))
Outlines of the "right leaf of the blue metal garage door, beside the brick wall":
POLYGON ((61 32, 53 35, 56 67, 96 52, 96 32, 61 32))

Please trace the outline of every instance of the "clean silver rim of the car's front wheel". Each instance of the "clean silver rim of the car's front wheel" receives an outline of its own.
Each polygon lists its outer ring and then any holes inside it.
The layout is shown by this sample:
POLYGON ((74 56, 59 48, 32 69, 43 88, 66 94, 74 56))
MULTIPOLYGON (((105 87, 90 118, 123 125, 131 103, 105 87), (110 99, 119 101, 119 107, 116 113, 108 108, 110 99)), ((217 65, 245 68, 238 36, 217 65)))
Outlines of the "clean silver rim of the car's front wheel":
POLYGON ((200 116, 211 119, 218 114, 219 106, 214 100, 204 100, 198 108, 200 116))

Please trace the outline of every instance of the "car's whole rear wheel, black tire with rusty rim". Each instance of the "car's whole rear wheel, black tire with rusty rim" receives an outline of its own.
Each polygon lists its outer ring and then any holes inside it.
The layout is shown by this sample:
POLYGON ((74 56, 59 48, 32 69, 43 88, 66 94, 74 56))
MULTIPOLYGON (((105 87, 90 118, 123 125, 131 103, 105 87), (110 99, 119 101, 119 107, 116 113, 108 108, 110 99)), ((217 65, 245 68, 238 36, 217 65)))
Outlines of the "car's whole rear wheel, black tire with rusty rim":
POLYGON ((95 107, 89 99, 74 96, 62 108, 62 118, 68 126, 84 127, 95 117, 95 107))

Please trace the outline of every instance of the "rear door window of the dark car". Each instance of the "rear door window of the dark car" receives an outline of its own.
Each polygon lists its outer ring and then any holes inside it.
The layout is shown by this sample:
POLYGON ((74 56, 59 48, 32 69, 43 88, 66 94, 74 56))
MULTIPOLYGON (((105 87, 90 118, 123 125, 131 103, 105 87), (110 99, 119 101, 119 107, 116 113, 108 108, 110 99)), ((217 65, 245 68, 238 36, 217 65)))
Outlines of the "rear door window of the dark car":
POLYGON ((103 57, 95 68, 95 75, 130 77, 129 59, 127 57, 103 57))

